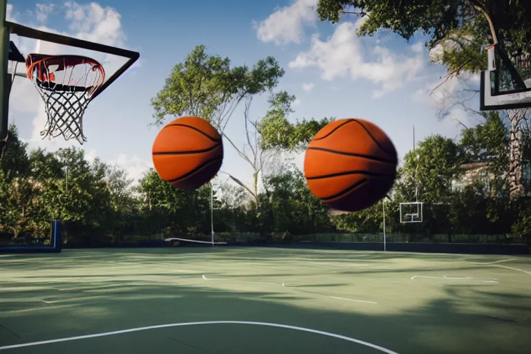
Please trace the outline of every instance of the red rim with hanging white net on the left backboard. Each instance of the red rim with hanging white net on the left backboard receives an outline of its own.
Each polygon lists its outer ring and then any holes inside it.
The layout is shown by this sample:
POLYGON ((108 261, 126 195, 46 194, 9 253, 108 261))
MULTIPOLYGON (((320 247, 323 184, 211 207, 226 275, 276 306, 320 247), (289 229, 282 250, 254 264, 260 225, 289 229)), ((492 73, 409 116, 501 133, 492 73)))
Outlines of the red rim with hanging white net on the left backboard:
POLYGON ((105 81, 102 64, 79 55, 30 54, 26 68, 48 115, 41 136, 86 142, 83 114, 105 81))

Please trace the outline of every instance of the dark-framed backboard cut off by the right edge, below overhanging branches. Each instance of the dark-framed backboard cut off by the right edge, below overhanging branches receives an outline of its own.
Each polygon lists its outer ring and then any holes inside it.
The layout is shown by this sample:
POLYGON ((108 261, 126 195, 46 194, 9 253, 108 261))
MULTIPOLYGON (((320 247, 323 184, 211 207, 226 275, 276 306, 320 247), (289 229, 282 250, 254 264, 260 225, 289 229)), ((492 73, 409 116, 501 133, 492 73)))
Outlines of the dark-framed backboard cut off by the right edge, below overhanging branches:
POLYGON ((499 44, 487 47, 487 70, 481 72, 480 110, 531 107, 531 55, 507 55, 499 44))

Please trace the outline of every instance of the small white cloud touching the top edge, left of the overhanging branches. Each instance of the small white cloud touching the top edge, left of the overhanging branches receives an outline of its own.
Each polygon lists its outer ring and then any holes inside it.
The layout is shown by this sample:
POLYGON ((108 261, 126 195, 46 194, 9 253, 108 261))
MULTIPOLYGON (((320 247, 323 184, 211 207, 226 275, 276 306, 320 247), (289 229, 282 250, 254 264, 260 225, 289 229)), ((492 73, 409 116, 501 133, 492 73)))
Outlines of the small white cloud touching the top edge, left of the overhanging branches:
POLYGON ((277 45, 301 43, 304 26, 317 21, 316 5, 317 0, 297 0, 290 6, 277 9, 267 19, 254 23, 258 39, 277 45))

